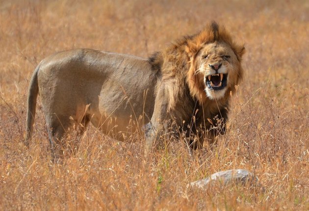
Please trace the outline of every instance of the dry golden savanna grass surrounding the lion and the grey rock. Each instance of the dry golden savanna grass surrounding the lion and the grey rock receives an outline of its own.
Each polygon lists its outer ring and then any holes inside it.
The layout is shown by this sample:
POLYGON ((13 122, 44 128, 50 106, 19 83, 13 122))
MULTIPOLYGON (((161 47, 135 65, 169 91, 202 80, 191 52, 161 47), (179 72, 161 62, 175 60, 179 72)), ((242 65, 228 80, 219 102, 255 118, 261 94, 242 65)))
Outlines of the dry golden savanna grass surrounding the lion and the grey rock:
POLYGON ((0 210, 309 210, 308 0, 0 0, 0 210), (244 80, 229 131, 190 157, 172 142, 143 158, 143 139, 89 127, 76 156, 50 162, 38 100, 30 148, 26 94, 41 59, 74 48, 147 57, 216 20, 244 42, 244 80), (221 170, 264 189, 188 189, 221 170))

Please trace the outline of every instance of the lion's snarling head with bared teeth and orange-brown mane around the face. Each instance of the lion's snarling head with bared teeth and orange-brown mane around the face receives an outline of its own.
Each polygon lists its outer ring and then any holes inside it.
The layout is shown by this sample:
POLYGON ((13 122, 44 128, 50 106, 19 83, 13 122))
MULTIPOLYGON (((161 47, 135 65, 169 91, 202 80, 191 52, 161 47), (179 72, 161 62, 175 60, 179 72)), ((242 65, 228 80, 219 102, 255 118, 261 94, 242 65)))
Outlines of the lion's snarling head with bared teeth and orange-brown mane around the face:
POLYGON ((228 96, 242 79, 240 62, 245 48, 233 42, 225 28, 215 22, 188 39, 185 50, 190 59, 187 83, 191 95, 201 103, 206 96, 210 100, 228 96))

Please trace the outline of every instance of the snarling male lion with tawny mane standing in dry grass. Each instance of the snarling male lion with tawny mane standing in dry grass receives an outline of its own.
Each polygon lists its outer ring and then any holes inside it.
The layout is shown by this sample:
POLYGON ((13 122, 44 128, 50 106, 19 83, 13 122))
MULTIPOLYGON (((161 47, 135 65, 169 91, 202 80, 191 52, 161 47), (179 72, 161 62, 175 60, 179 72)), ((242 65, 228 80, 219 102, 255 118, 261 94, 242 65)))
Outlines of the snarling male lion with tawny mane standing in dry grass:
MULTIPOLYGON (((230 91, 242 78, 244 52, 212 22, 149 59, 91 49, 56 53, 40 62, 30 81, 26 144, 39 93, 54 156, 63 155, 67 134, 81 136, 89 122, 119 140, 132 127, 147 124, 146 154, 171 129, 175 136, 184 134, 191 148, 200 147, 202 134, 213 139, 225 132, 230 91)), ((69 144, 71 150, 78 140, 69 144)))

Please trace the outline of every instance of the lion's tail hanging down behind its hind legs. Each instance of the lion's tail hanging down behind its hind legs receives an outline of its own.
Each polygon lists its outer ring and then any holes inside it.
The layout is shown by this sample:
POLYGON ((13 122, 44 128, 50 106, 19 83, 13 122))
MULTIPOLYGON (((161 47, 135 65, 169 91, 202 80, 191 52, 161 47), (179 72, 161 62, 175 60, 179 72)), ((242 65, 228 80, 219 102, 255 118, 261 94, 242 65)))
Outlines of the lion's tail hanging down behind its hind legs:
POLYGON ((35 108, 36 108, 36 99, 39 92, 38 85, 38 72, 40 69, 40 65, 36 67, 34 73, 31 77, 29 89, 28 89, 28 97, 27 97, 27 116, 26 116, 26 137, 25 144, 29 146, 29 140, 32 138, 33 132, 33 124, 35 117, 35 108))

